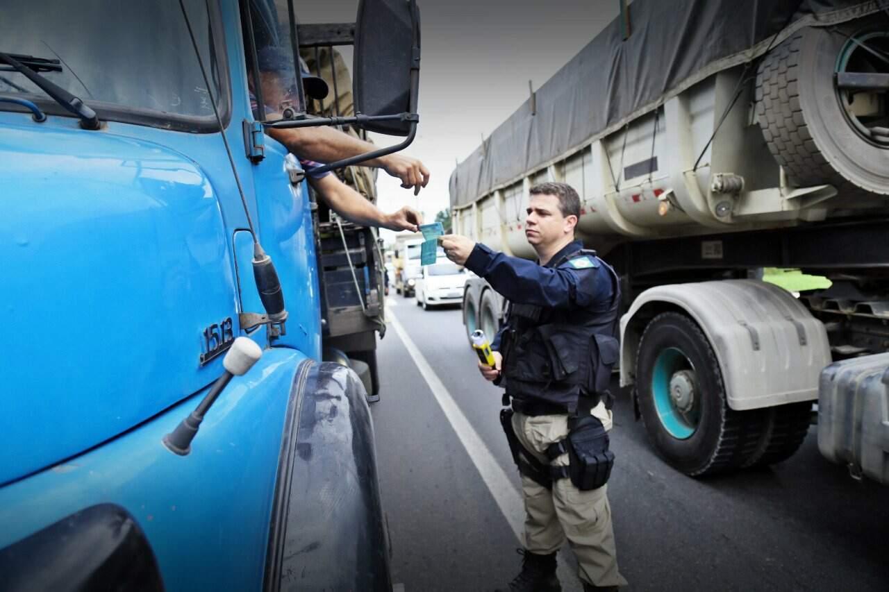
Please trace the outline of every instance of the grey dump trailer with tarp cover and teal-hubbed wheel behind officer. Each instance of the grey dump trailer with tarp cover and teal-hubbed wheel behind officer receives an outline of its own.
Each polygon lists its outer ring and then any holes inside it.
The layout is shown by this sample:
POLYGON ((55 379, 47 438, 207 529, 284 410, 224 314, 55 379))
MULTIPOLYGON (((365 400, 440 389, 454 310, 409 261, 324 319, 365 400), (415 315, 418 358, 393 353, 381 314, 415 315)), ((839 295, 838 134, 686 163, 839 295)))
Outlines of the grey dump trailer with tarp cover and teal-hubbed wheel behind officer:
MULTIPOLYGON (((629 8, 458 164, 454 232, 533 258, 529 188, 572 185, 577 235, 621 277, 621 387, 665 460, 786 460, 817 403, 822 454, 889 483, 886 3, 629 8)), ((468 334, 504 312, 469 280, 468 334)))

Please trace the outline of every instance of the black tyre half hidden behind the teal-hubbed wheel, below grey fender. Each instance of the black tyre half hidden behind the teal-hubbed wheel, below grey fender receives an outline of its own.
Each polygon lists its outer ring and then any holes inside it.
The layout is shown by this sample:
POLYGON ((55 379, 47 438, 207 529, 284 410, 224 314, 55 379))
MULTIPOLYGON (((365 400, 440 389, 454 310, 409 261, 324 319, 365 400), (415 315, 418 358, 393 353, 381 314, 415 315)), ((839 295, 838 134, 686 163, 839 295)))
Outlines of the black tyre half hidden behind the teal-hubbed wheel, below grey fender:
POLYGON ((788 460, 803 444, 812 420, 811 401, 769 407, 762 411, 762 436, 757 449, 745 462, 747 467, 765 467, 788 460))

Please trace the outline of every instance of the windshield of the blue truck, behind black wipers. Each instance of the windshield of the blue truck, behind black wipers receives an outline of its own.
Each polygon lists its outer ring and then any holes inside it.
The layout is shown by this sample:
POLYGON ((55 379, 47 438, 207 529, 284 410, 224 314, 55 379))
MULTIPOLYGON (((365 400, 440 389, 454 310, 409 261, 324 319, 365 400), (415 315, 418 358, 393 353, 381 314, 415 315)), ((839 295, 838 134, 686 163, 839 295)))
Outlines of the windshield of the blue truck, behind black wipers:
MULTIPOLYGON (((213 45, 207 4, 186 0, 185 5, 210 68, 213 96, 220 100, 218 48, 213 45)), ((189 129, 214 121, 178 3, 31 0, 4 3, 3 12, 0 52, 59 60, 60 72, 42 76, 80 97, 100 118, 135 123, 154 119, 164 127, 189 129)), ((0 94, 26 97, 46 105, 51 113, 69 116, 53 110, 54 103, 43 91, 7 68, 0 71, 0 94)), ((10 108, 7 103, 0 106, 10 108)), ((222 113, 225 108, 220 108, 222 113)))

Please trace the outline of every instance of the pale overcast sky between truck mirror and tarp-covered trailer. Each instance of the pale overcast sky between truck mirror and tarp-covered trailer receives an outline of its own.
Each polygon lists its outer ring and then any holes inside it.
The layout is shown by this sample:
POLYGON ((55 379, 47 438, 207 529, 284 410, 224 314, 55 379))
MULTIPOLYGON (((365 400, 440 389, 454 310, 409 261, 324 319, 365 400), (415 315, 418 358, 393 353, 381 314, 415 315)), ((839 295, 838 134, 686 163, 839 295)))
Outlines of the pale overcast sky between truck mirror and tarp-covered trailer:
MULTIPOLYGON (((354 21, 357 0, 297 0, 300 22, 354 21)), ((414 197, 380 173, 380 208, 412 205, 428 221, 448 206, 463 160, 618 14, 618 0, 418 0, 420 126, 405 154, 432 172, 414 197)), ((346 56, 347 52, 343 52, 346 56)), ((350 53, 349 53, 350 56, 350 53)), ((350 59, 350 57, 348 58, 350 59)), ((391 143, 385 137, 378 143, 391 143)), ((388 233, 387 233, 388 234, 388 233)))

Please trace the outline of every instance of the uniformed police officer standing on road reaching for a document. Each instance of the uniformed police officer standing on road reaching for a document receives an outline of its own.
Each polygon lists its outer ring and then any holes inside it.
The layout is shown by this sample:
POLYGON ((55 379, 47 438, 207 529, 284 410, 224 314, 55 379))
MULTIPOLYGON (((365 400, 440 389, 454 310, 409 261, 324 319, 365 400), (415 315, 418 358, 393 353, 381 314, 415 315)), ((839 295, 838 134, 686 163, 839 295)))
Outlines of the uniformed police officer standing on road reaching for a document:
POLYGON ((560 590, 556 552, 565 538, 584 590, 627 584, 618 572, 604 484, 613 461, 605 389, 618 355, 618 279, 574 240, 580 214, 580 198, 569 185, 531 188, 525 237, 537 263, 493 252, 466 236, 441 239, 450 260, 509 300, 506 323, 492 344, 496 366, 479 363, 479 369, 506 389, 504 404, 511 400, 512 410, 503 410, 501 420, 525 494, 522 571, 510 591, 560 590), (569 437, 581 431, 587 436, 569 437))

